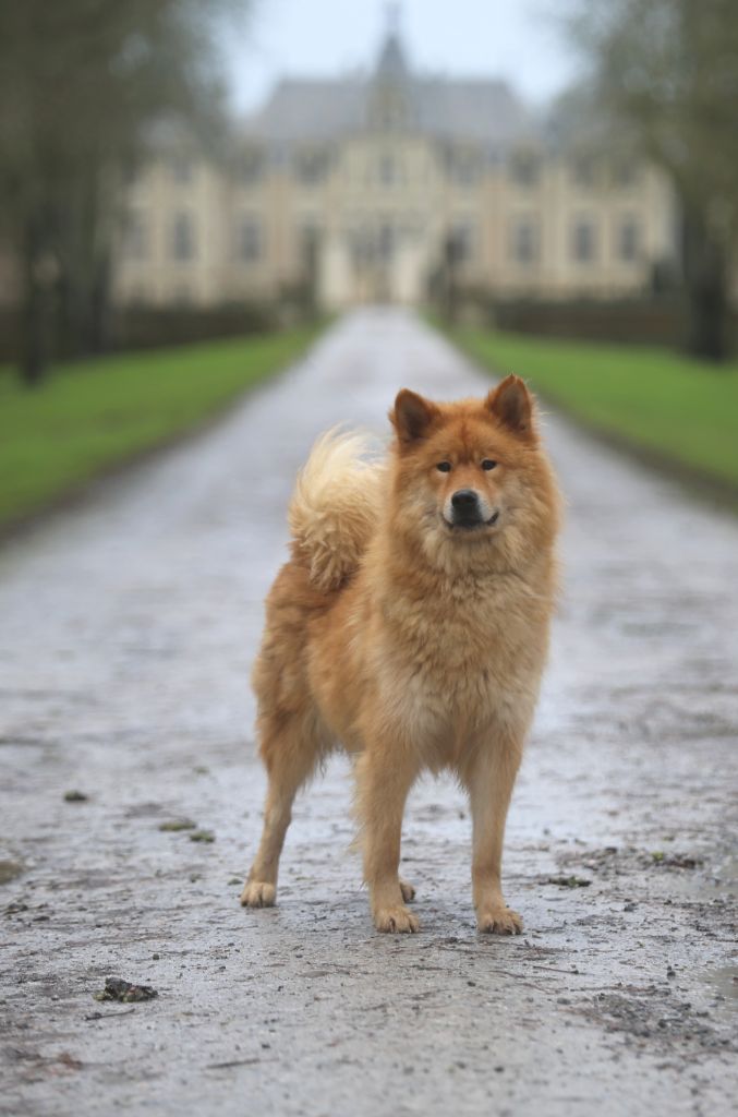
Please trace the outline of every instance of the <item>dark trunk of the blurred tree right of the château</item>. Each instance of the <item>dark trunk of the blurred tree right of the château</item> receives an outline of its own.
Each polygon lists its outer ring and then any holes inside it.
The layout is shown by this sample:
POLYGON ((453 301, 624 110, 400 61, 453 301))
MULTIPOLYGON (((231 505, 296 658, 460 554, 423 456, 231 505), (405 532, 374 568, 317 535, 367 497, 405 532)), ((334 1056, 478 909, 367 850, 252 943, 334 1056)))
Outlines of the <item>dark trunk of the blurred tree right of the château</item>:
POLYGON ((684 280, 689 298, 687 349, 707 361, 725 361, 730 350, 728 254, 693 210, 684 214, 684 280))

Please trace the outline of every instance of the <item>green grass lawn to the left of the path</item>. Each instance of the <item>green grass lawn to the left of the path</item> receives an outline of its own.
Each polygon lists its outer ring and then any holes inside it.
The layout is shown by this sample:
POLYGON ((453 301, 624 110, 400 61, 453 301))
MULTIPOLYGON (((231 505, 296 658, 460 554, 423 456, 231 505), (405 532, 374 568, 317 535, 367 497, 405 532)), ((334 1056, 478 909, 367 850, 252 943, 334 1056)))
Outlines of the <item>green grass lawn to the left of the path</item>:
POLYGON ((60 365, 38 390, 0 369, 0 527, 197 427, 287 365, 314 327, 60 365))

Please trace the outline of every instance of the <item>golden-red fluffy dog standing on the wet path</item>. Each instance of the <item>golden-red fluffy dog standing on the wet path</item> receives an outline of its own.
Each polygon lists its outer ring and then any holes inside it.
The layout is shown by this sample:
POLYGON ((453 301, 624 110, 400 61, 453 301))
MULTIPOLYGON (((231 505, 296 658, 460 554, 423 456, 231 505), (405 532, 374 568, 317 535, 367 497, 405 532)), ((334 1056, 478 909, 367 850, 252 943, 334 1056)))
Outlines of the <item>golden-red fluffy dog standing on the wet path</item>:
POLYGON ((457 403, 403 390, 390 418, 389 460, 327 435, 297 483, 253 672, 269 789, 241 903, 275 903, 295 794, 341 744, 376 928, 418 929, 397 876, 405 800, 450 768, 469 793, 479 929, 519 933, 502 841, 556 596, 556 481, 517 376, 457 403))

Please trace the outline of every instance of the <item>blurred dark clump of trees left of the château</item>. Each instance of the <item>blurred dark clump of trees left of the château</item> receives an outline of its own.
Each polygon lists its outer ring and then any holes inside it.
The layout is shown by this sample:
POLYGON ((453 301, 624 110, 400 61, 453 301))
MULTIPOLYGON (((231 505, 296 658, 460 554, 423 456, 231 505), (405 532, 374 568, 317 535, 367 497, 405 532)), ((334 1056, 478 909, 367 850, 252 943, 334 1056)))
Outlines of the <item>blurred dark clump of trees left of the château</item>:
POLYGON ((221 118, 223 21, 249 0, 0 0, 0 222, 21 262, 28 384, 60 323, 104 341, 122 185, 151 128, 221 118))

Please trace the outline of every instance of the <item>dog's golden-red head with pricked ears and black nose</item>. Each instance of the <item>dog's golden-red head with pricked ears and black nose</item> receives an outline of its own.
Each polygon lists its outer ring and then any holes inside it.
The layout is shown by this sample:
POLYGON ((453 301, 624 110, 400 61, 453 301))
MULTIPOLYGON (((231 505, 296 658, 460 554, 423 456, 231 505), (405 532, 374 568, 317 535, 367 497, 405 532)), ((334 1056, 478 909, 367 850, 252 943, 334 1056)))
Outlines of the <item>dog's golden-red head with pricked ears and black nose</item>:
POLYGON ((438 565, 515 567, 550 545, 558 502, 535 402, 519 376, 483 400, 432 403, 403 389, 396 433, 394 527, 438 565))

